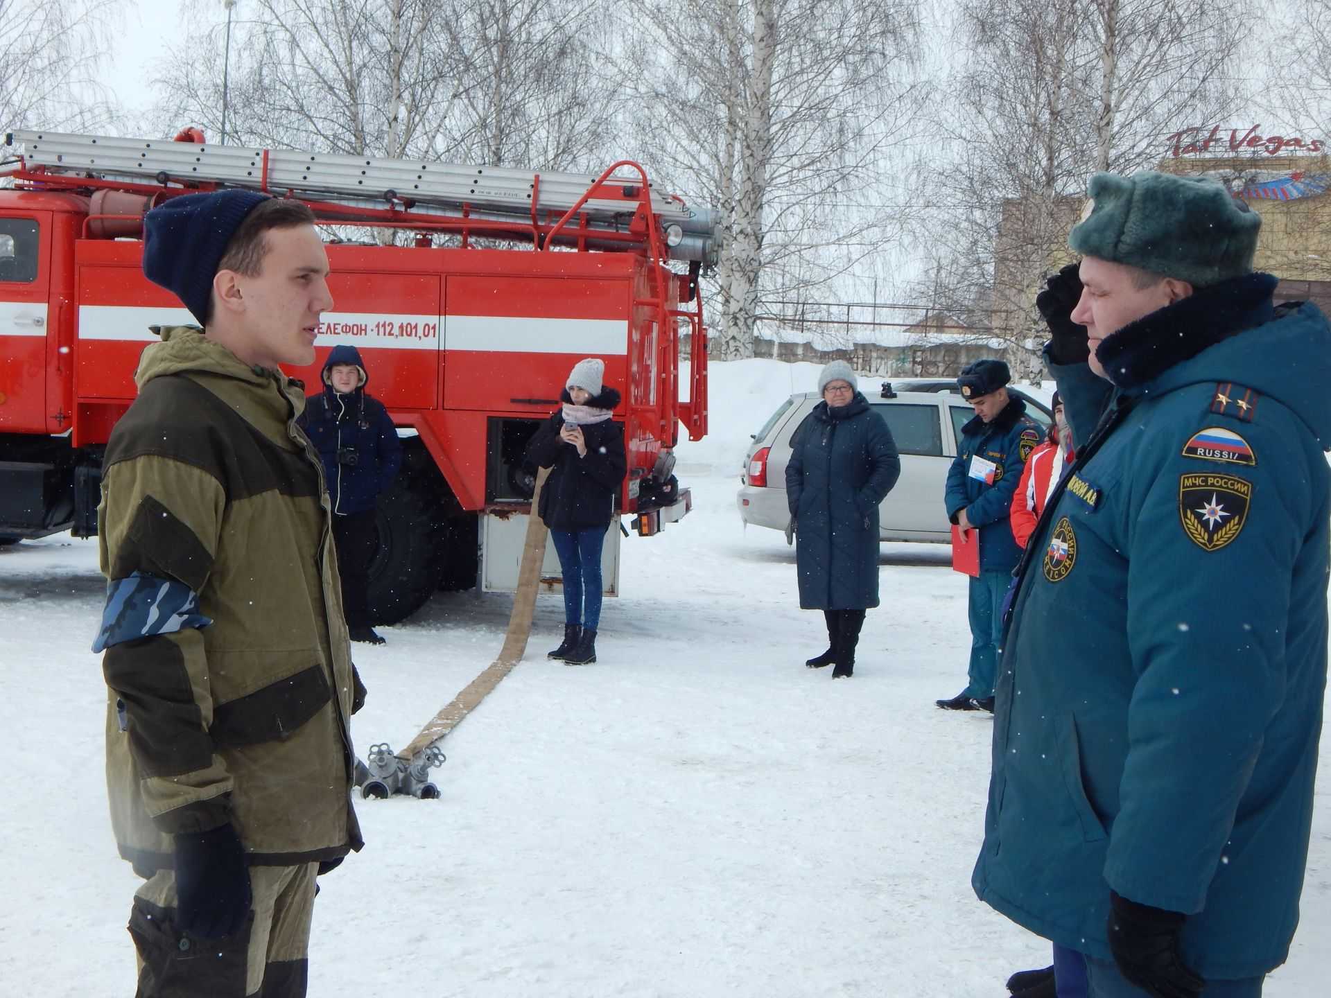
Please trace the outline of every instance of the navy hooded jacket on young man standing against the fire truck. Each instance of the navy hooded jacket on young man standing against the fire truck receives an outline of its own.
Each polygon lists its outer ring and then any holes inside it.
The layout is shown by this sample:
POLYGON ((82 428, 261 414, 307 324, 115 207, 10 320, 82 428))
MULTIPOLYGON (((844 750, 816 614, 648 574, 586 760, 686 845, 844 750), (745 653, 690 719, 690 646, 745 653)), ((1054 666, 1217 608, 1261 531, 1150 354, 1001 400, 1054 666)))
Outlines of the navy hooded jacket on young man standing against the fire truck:
POLYGON ((398 431, 383 403, 365 394, 367 375, 354 346, 333 347, 322 377, 325 389, 306 399, 302 424, 323 459, 333 512, 366 512, 402 464, 398 431), (361 386, 345 395, 329 385, 329 371, 339 363, 361 369, 361 386))

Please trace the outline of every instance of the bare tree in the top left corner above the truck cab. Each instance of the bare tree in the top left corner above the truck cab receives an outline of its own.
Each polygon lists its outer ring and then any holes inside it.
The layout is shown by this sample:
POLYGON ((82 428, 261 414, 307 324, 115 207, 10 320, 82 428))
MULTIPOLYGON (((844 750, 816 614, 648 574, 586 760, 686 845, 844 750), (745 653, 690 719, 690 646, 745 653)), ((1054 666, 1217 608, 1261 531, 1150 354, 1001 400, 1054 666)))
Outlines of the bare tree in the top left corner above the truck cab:
POLYGON ((96 73, 112 8, 110 0, 0 0, 0 133, 91 129, 109 120, 96 73))

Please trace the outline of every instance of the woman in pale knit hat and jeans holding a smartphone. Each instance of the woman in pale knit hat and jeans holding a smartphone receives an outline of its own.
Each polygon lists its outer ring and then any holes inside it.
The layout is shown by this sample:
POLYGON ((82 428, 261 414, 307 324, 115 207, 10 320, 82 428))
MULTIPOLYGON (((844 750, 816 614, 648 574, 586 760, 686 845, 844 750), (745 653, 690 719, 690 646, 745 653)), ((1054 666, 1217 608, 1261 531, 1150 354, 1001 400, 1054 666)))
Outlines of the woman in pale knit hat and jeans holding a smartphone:
POLYGON ((524 460, 551 468, 538 512, 563 572, 564 640, 547 657, 570 665, 596 661, 600 551, 628 467, 624 431, 611 419, 619 393, 602 385, 606 363, 594 357, 574 365, 559 395, 563 407, 536 430, 524 460))

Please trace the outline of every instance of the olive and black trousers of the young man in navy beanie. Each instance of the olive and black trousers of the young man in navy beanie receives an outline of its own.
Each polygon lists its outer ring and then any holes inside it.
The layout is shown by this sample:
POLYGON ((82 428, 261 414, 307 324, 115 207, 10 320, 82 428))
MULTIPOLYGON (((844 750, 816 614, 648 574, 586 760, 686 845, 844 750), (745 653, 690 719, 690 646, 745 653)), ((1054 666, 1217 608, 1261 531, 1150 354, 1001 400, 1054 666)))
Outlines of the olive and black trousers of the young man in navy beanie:
POLYGON ((303 998, 317 869, 252 866, 250 915, 226 939, 198 939, 172 925, 176 874, 158 870, 134 892, 129 914, 136 998, 303 998))

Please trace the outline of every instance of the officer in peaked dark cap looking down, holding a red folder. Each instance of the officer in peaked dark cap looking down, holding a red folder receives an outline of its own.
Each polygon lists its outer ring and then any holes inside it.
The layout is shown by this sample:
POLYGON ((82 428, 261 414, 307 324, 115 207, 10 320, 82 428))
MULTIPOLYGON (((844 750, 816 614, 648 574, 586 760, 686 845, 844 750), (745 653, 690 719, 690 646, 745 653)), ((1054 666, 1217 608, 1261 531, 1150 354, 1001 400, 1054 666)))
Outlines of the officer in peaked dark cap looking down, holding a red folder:
POLYGON ((961 444, 948 470, 948 519, 980 543, 980 575, 970 579, 970 681, 945 711, 994 709, 994 672, 1002 628, 1002 599, 1021 547, 1008 519, 1021 468, 1040 446, 1044 432, 1026 415, 1026 403, 1008 394, 1012 374, 1002 361, 966 365, 957 385, 976 410, 961 428, 961 444))

